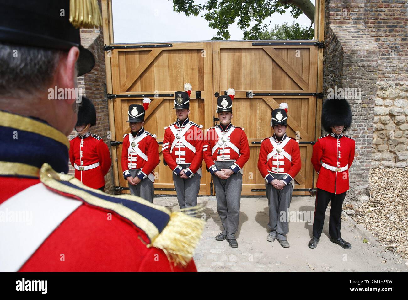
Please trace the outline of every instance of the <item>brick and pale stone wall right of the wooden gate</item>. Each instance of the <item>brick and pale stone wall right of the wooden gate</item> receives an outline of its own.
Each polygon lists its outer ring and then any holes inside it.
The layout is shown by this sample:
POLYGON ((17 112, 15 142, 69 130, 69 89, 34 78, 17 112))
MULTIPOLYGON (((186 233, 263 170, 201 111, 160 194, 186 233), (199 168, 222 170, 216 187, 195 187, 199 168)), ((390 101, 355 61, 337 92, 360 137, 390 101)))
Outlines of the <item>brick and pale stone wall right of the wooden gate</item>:
POLYGON ((407 0, 326 0, 325 17, 323 90, 361 89, 349 100, 353 197, 368 192, 370 167, 407 165, 407 0))

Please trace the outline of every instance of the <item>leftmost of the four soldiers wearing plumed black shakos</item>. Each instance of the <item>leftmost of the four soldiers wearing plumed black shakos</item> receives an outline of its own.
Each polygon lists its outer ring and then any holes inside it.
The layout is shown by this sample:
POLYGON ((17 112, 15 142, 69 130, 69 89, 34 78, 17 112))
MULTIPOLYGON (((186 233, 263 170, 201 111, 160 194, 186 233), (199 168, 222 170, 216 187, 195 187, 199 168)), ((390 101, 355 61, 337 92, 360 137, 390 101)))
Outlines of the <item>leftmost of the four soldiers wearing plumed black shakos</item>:
POLYGON ((159 145, 156 135, 144 130, 144 115, 149 108, 150 99, 143 99, 143 106, 131 104, 128 120, 131 133, 123 136, 122 171, 129 182, 132 195, 151 203, 154 198, 154 168, 159 164, 159 145))

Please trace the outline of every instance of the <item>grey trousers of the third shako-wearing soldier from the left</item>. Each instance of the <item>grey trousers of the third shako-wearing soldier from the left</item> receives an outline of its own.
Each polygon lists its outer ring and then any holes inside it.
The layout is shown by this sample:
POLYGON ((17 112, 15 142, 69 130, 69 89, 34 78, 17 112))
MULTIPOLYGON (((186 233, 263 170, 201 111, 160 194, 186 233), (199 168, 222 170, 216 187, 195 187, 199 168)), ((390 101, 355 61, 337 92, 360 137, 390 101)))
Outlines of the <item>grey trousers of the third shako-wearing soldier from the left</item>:
MULTIPOLYGON (((233 164, 233 161, 215 162, 218 169, 228 169, 233 164)), ((241 204, 242 174, 239 172, 232 174, 228 179, 220 179, 213 175, 213 182, 217 197, 217 211, 224 228, 222 233, 228 240, 235 240, 241 204)))

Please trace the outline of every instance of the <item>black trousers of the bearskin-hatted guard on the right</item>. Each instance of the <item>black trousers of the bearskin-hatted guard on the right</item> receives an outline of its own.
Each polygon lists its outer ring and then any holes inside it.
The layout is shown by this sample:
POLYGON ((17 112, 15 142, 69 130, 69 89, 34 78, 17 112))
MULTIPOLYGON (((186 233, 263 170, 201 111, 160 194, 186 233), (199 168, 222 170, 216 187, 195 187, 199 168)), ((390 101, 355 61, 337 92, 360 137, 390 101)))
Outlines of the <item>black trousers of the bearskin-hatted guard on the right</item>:
POLYGON ((322 235, 324 216, 326 216, 326 209, 330 201, 329 234, 331 238, 341 238, 341 209, 343 207, 344 198, 346 198, 346 193, 347 191, 341 194, 335 194, 317 189, 315 216, 313 218, 313 236, 315 238, 320 238, 322 235))

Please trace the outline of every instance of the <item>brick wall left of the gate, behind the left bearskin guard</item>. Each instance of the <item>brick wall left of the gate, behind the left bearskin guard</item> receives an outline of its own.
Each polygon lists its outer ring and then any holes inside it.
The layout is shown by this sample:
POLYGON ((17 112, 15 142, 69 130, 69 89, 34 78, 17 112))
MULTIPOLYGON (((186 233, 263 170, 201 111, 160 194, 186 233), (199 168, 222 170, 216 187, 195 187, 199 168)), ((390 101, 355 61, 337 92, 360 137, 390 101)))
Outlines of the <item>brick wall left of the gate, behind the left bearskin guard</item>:
MULTIPOLYGON (((106 97, 106 79, 105 79, 105 56, 102 29, 81 29, 81 44, 89 49, 95 56, 95 67, 91 72, 84 76, 78 77, 79 89, 82 94, 89 98, 96 109, 96 125, 91 127, 91 133, 95 133, 108 145, 109 150, 110 140, 109 134, 109 115, 108 115, 108 100, 106 97)), ((71 133, 71 137, 75 135, 75 131, 71 133)), ((70 166, 70 173, 74 169, 70 166)), ((105 176, 105 192, 113 193, 113 174, 112 168, 105 176)))

